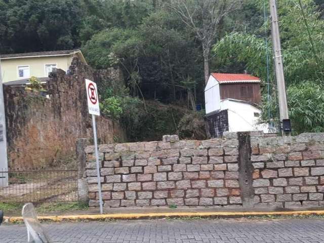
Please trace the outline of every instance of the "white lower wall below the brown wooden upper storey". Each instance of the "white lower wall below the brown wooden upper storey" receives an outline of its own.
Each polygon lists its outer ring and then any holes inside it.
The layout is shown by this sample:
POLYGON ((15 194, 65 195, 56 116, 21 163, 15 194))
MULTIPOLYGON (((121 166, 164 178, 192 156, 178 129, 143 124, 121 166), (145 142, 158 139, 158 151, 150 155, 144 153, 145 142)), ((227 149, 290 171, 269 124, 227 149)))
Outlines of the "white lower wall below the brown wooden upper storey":
POLYGON ((233 99, 226 99, 220 102, 221 110, 228 110, 229 132, 263 131, 268 133, 267 124, 259 124, 258 119, 261 109, 233 99))

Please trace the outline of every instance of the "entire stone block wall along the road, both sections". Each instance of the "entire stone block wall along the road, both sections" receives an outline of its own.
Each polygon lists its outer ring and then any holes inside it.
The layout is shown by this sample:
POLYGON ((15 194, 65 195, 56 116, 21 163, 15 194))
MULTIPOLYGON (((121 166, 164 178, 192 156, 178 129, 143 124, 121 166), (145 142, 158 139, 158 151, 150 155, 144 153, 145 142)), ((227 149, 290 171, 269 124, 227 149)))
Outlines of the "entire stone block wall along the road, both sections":
MULTIPOLYGON (((322 206, 324 134, 99 145, 104 207, 322 206)), ((99 205, 94 147, 88 146, 90 206, 99 205)))

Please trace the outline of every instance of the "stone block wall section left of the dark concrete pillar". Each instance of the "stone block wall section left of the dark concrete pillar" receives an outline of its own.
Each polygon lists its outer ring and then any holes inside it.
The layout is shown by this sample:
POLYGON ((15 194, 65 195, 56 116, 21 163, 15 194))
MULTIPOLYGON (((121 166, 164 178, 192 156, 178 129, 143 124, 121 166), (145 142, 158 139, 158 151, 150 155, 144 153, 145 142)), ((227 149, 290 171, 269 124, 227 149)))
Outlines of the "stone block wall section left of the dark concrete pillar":
MULTIPOLYGON (((238 140, 99 146, 104 207, 241 205, 238 140)), ((87 153, 90 206, 99 205, 94 147, 87 153)))

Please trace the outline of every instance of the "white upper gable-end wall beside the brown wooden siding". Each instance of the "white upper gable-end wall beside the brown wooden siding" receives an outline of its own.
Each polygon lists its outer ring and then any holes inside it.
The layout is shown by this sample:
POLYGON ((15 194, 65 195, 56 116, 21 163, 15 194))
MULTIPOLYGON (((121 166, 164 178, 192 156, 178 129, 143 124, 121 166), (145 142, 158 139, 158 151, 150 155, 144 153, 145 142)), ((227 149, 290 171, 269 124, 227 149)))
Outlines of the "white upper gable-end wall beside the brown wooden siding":
POLYGON ((220 110, 219 83, 215 77, 210 75, 205 88, 205 109, 206 114, 220 110))

